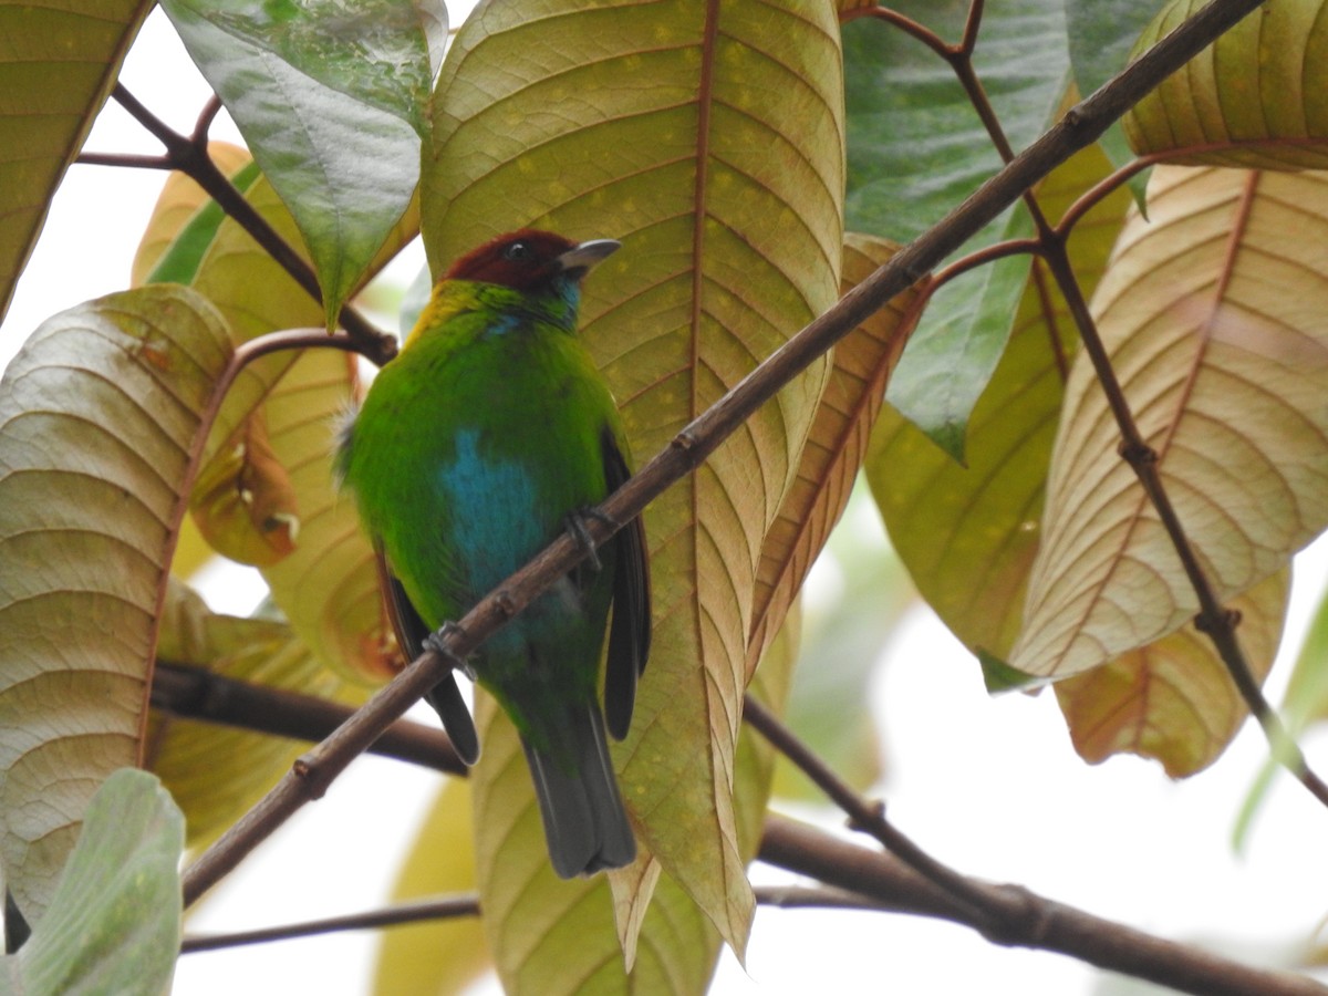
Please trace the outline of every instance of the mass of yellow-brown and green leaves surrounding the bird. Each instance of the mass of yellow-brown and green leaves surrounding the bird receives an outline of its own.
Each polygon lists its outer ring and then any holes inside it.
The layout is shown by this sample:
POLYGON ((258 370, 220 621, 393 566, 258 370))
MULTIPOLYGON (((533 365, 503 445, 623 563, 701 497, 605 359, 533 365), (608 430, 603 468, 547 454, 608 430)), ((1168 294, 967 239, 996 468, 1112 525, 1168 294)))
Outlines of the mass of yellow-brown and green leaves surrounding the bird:
MULTIPOLYGON (((158 664, 351 704, 402 667, 329 446, 356 353, 392 349, 355 296, 412 239, 434 274, 521 226, 620 239, 583 336, 643 466, 1062 120, 1076 82, 1198 4, 486 0, 446 46, 436 0, 163 7, 248 147, 210 145, 208 114, 174 135, 117 92, 177 170, 133 286, 50 317, 0 381, 0 859, 32 965, 76 959, 50 940, 70 890, 137 861, 98 838, 127 805, 98 786, 141 794, 142 846, 174 867, 173 807, 118 769, 157 772, 202 847, 300 749, 153 709, 158 664), (270 611, 210 612, 186 580, 212 555, 258 566, 270 611)), ((1242 21, 649 505, 656 651, 615 748, 636 865, 554 878, 514 730, 481 696, 481 761, 398 894, 477 888, 483 943, 413 928, 380 989, 459 988, 487 956, 510 991, 687 993, 721 944, 741 956, 774 769, 745 696, 842 781, 878 774, 862 689, 911 598, 886 551, 831 544, 854 598, 811 615, 794 676, 798 594, 859 470, 989 687, 1054 684, 1093 762, 1182 777, 1222 754, 1264 708, 1289 560, 1328 526, 1321 13, 1280 0, 1242 21)), ((4 64, 0 303, 143 15, 0 8, 28 60, 4 64)), ((1296 733, 1323 713, 1319 656, 1292 684, 1296 733)), ((137 884, 174 890, 158 872, 137 884)), ((86 916, 126 938, 105 971, 170 964, 178 923, 126 920, 114 896, 86 916)))

